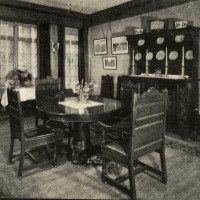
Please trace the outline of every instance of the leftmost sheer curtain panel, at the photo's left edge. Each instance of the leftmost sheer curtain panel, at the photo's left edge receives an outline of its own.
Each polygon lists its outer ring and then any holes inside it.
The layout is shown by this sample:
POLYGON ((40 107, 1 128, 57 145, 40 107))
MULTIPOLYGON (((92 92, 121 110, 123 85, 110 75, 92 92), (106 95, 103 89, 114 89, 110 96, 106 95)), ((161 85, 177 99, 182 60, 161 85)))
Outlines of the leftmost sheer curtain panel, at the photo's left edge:
POLYGON ((0 97, 4 92, 5 76, 14 68, 14 26, 0 20, 0 97))

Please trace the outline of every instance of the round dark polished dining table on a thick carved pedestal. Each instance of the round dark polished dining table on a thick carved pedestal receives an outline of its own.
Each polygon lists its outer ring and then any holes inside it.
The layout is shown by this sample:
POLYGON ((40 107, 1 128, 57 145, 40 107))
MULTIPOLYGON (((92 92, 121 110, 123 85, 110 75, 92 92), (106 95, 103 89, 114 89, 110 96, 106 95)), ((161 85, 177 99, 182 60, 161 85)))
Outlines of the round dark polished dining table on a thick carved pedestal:
POLYGON ((68 97, 62 101, 43 101, 36 106, 37 112, 48 119, 72 123, 70 157, 75 164, 84 163, 91 156, 90 123, 111 120, 114 111, 120 108, 120 101, 99 96, 89 97, 86 102, 68 97))

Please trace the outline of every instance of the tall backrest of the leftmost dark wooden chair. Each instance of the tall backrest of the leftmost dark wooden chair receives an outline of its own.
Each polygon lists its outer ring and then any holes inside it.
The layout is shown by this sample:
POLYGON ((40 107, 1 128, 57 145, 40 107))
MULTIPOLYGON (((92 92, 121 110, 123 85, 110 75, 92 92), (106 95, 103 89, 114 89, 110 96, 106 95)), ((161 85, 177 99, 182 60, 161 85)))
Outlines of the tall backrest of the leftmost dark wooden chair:
POLYGON ((24 140, 24 124, 20 93, 14 88, 8 88, 7 94, 11 137, 22 141, 24 140))

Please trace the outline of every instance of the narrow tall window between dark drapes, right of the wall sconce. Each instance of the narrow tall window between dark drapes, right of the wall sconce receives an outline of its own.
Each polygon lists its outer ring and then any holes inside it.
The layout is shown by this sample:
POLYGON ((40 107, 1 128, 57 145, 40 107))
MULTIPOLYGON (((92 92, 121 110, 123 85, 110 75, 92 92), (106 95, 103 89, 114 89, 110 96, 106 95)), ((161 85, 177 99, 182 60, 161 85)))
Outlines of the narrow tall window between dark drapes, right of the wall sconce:
POLYGON ((78 82, 78 29, 65 28, 65 89, 78 82))

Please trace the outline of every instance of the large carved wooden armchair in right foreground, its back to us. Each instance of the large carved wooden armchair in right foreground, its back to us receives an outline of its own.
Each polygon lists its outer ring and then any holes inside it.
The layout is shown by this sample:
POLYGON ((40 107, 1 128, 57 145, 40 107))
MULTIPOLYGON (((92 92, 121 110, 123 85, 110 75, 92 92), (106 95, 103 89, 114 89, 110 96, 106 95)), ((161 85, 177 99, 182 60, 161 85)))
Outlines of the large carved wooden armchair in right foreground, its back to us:
POLYGON ((150 170, 160 175, 162 181, 167 183, 165 161, 166 107, 167 91, 159 92, 154 88, 150 88, 141 96, 136 93, 133 94, 131 125, 128 122, 120 122, 113 125, 99 122, 103 134, 101 148, 103 160, 102 181, 119 187, 128 193, 133 200, 136 200, 136 174, 144 170, 150 170), (118 129, 126 128, 124 132, 126 136, 129 133, 128 137, 106 143, 105 136, 116 127, 118 129), (127 127, 129 127, 129 131, 127 131, 127 127), (160 154, 161 171, 139 161, 139 158, 154 151, 160 154), (107 172, 109 161, 114 161, 128 169, 130 189, 120 184, 124 181, 124 178, 112 179, 109 177, 107 172))

